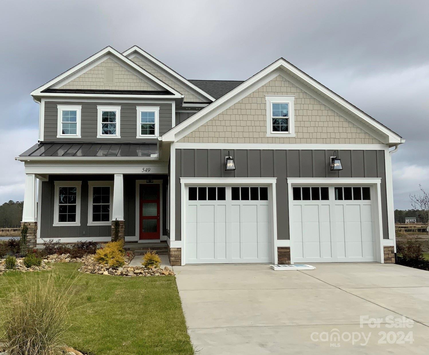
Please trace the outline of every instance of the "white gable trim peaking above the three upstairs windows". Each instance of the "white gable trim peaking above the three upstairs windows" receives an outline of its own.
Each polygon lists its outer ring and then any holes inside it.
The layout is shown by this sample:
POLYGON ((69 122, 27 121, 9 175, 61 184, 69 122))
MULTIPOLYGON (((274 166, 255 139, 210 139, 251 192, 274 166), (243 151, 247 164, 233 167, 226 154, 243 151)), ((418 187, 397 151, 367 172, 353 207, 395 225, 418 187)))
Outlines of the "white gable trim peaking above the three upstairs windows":
MULTIPOLYGON (((123 54, 116 51, 114 48, 108 46, 101 51, 97 52, 96 54, 92 55, 91 57, 85 59, 81 63, 79 63, 76 66, 73 66, 73 68, 70 68, 66 72, 63 72, 62 74, 58 75, 56 78, 52 79, 51 81, 48 81, 46 84, 42 85, 41 87, 38 87, 36 90, 33 90, 31 92, 32 96, 59 96, 61 93, 49 93, 46 92, 46 89, 51 88, 52 86, 61 83, 62 85, 66 83, 66 79, 73 80, 76 76, 79 76, 82 74, 82 72, 85 72, 86 70, 90 69, 92 66, 94 66, 94 63, 97 63, 97 61, 100 61, 100 59, 106 57, 107 55, 111 55, 112 57, 118 59, 122 63, 125 64, 125 66, 128 66, 130 69, 132 69, 134 72, 138 73, 139 75, 149 79, 150 81, 158 84, 159 86, 163 87, 166 91, 169 92, 169 97, 182 97, 181 93, 179 93, 177 90, 173 89, 160 79, 158 79, 155 75, 152 75, 145 69, 138 66, 136 63, 134 63, 129 58, 125 57, 123 54), (91 66, 92 65, 92 66, 91 66)), ((64 93, 64 95, 71 96, 69 93, 64 93)), ((79 95, 79 94, 72 94, 72 95, 79 95)), ((94 94, 93 94, 94 95, 94 94)))

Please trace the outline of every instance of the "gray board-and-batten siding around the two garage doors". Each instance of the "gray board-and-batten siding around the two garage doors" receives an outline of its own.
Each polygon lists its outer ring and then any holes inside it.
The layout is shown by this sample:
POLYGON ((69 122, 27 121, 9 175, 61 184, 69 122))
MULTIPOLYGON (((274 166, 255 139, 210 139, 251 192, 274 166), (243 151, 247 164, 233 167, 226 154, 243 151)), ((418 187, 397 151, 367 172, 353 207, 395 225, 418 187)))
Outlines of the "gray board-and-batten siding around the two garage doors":
MULTIPOLYGON (((230 149, 235 171, 225 171, 228 150, 175 150, 175 203, 181 206, 181 177, 276 177, 277 239, 289 240, 287 177, 381 177, 383 239, 387 226, 384 150, 339 150, 343 170, 330 171, 333 150, 230 149)), ((176 208, 175 240, 181 240, 181 210, 176 208)))

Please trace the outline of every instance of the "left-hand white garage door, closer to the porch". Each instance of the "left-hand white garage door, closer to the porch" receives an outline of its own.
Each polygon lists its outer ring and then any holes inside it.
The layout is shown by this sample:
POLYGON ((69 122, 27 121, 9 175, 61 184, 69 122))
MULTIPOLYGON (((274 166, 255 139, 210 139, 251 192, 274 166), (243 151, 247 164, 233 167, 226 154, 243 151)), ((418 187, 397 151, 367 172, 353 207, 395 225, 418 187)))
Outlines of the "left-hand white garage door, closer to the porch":
POLYGON ((272 262, 268 187, 186 187, 185 263, 272 262))

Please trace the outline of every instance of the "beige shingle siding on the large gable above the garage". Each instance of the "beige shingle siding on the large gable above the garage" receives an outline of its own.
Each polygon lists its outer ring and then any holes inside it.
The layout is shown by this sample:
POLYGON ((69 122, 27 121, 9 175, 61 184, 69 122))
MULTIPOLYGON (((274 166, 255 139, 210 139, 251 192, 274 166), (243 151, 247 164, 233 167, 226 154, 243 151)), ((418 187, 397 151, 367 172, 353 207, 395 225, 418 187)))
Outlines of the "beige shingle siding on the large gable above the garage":
POLYGON ((313 96, 278 75, 179 142, 379 144, 313 96), (267 137, 265 95, 295 95, 296 138, 267 137))

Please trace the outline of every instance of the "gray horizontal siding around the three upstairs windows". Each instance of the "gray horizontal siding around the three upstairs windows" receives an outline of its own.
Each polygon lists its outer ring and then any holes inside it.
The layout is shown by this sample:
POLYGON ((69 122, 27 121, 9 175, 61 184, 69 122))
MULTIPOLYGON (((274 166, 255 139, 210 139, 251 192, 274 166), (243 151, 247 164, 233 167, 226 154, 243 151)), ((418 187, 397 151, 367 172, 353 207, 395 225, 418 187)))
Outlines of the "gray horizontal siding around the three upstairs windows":
POLYGON ((159 133, 163 135, 172 128, 171 103, 138 103, 138 102, 45 102, 44 141, 145 141, 136 138, 137 106, 159 106, 159 133), (58 108, 57 105, 81 105, 81 137, 57 138, 58 108), (121 138, 97 138, 97 106, 121 106, 121 138))

